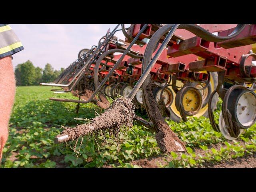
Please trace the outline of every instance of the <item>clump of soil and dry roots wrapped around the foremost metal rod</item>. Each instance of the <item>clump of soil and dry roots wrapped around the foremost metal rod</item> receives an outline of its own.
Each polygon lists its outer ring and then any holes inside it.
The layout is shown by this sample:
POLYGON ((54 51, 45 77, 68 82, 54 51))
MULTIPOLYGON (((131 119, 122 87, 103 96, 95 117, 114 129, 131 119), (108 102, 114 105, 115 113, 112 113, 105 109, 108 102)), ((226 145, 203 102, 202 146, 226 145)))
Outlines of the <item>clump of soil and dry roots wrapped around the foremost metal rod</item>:
MULTIPOLYGON (((103 114, 94 118, 87 124, 78 125, 74 128, 65 128, 60 136, 68 135, 63 142, 72 141, 89 134, 92 131, 109 129, 110 135, 116 137, 122 126, 131 128, 135 118, 134 104, 124 97, 118 97, 103 114)), ((55 141, 56 142, 56 141, 55 141)))

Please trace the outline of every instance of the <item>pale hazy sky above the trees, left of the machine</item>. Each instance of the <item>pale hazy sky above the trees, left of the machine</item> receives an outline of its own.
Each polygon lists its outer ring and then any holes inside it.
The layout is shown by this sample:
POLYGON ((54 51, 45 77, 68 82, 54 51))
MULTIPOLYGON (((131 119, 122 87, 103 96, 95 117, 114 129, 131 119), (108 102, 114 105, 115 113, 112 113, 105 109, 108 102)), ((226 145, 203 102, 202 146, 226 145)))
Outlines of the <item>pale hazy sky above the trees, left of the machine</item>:
MULTIPOLYGON (((83 48, 98 45, 98 41, 116 24, 10 24, 24 50, 13 55, 14 67, 27 60, 44 68, 50 63, 54 69, 68 67, 83 48)), ((129 26, 126 24, 126 26, 129 26)), ((119 27, 121 28, 121 27, 119 27)), ((124 39, 122 31, 115 36, 124 39)))

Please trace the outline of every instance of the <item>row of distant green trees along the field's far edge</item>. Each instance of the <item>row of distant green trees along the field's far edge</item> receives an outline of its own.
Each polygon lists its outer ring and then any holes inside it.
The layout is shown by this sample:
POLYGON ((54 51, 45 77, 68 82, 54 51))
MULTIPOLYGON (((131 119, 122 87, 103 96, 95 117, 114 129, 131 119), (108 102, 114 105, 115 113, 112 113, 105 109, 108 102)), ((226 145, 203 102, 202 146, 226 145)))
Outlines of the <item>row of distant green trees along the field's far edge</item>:
POLYGON ((54 70, 51 64, 47 63, 44 69, 35 67, 30 60, 18 64, 15 67, 16 86, 39 85, 40 82, 53 82, 62 72, 54 70))

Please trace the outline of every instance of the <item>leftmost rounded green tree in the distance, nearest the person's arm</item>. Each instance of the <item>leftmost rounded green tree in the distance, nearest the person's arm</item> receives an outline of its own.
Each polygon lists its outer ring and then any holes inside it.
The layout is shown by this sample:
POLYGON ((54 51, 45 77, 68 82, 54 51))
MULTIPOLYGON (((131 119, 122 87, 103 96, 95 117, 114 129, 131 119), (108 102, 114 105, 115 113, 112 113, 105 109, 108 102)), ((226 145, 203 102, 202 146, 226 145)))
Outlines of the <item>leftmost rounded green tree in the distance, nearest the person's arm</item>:
POLYGON ((20 77, 22 86, 30 86, 34 84, 36 68, 30 60, 20 65, 20 77))

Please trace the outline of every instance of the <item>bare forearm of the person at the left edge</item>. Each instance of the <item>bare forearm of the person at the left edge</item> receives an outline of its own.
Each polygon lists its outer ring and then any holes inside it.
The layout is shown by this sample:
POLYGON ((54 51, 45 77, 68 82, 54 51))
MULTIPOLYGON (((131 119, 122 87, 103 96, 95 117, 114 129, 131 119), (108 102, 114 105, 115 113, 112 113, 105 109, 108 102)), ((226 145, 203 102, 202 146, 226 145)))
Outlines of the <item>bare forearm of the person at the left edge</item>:
POLYGON ((8 122, 12 111, 16 89, 12 59, 0 58, 0 160, 2 149, 8 138, 8 122))

